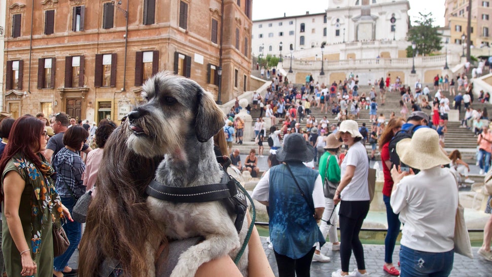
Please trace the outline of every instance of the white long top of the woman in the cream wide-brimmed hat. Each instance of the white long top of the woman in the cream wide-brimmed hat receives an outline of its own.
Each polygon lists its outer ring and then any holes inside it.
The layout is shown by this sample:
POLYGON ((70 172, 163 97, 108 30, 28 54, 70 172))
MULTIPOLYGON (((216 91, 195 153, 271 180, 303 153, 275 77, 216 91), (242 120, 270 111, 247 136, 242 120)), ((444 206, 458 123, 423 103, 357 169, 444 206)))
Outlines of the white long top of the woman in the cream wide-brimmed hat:
POLYGON ((438 166, 395 185, 390 204, 404 223, 401 244, 432 253, 453 249, 458 188, 452 173, 438 166))

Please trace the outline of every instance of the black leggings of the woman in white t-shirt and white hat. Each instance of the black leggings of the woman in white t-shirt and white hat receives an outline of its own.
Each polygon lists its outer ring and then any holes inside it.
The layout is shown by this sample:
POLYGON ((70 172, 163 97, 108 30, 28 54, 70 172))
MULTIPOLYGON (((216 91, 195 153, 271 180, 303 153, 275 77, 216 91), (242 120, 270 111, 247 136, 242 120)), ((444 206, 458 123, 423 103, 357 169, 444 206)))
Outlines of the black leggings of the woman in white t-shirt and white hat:
POLYGON ((359 240, 359 232, 369 211, 369 201, 342 201, 340 204, 340 261, 342 271, 348 272, 350 256, 354 251, 357 269, 364 270, 364 248, 359 240))

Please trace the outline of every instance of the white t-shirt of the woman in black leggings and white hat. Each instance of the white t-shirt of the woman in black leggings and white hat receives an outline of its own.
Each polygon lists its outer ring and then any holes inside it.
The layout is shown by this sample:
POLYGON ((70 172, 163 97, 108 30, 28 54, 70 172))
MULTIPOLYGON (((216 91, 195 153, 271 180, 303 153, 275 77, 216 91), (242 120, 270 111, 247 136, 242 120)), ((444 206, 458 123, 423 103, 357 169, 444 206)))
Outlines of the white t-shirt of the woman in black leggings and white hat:
POLYGON ((348 148, 347 154, 340 166, 340 176, 345 174, 347 166, 355 166, 354 177, 352 181, 343 188, 341 199, 344 201, 368 201, 369 185, 367 175, 369 171, 369 160, 367 159, 367 150, 361 142, 356 142, 348 148))

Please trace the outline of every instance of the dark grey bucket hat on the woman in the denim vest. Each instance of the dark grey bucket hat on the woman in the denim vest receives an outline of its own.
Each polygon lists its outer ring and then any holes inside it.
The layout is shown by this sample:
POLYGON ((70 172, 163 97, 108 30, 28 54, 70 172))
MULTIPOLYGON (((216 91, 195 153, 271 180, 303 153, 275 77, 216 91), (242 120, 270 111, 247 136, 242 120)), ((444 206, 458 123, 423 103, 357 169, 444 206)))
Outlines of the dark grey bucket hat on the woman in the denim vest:
POLYGON ((279 162, 310 162, 314 158, 314 147, 299 133, 293 133, 284 140, 284 147, 277 150, 279 162))

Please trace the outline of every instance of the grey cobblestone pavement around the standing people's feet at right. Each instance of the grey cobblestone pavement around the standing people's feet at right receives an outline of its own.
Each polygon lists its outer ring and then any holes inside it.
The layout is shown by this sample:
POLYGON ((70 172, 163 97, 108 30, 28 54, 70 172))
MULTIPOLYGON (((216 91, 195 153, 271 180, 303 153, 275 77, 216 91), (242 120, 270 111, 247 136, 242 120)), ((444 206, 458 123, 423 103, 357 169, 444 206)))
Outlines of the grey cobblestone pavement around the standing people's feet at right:
MULTIPOLYGON (((270 263, 270 266, 278 276, 277 263, 275 262, 275 255, 273 250, 268 249, 268 243, 266 238, 261 238, 263 248, 265 249, 266 256, 270 263)), ((467 258, 462 255, 454 254, 453 270, 450 276, 465 277, 465 276, 492 276, 492 262, 486 261, 478 256, 478 247, 473 247, 473 259, 467 258)), ((400 247, 396 246, 393 253, 393 262, 396 265, 398 263, 398 253, 400 247)), ((331 276, 331 272, 340 269, 340 252, 331 251, 331 244, 327 243, 321 252, 331 258, 331 262, 321 263, 313 262, 311 264, 311 276, 313 277, 325 277, 331 276)), ((372 277, 390 277, 392 275, 386 273, 383 269, 384 263, 384 245, 364 245, 364 258, 366 262, 366 269, 372 277)), ((349 270, 353 271, 357 268, 356 259, 354 255, 350 258, 349 270)), ((397 267, 398 268, 398 267, 397 267)))

